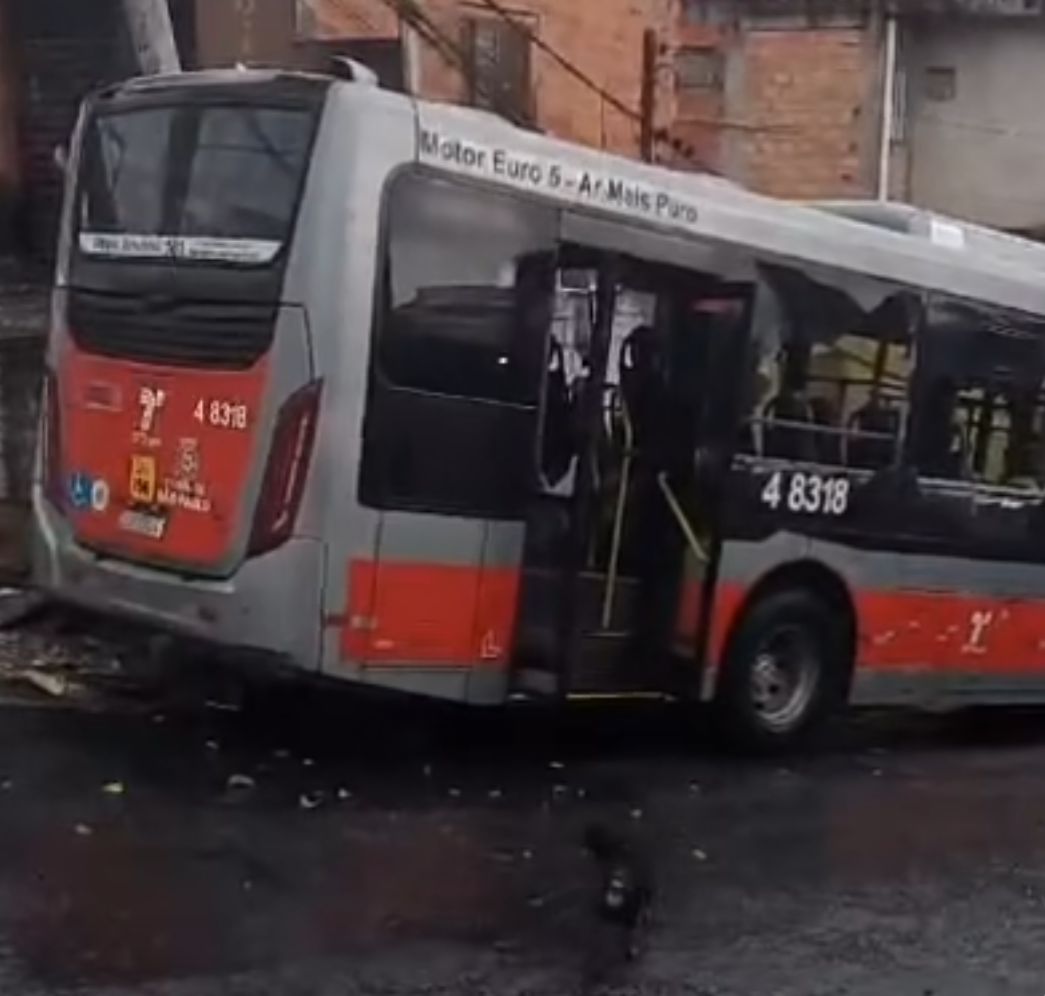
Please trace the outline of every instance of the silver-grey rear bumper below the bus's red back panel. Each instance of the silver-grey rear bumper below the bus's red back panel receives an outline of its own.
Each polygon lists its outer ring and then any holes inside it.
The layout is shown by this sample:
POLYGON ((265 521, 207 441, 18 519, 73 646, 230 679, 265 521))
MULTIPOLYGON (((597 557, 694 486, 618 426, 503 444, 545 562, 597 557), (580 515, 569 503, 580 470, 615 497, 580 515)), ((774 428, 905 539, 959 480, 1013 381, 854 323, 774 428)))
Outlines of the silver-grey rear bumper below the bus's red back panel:
POLYGON ((295 539, 225 580, 181 578, 102 558, 34 489, 32 576, 51 597, 229 649, 261 651, 307 671, 321 655, 323 546, 295 539))

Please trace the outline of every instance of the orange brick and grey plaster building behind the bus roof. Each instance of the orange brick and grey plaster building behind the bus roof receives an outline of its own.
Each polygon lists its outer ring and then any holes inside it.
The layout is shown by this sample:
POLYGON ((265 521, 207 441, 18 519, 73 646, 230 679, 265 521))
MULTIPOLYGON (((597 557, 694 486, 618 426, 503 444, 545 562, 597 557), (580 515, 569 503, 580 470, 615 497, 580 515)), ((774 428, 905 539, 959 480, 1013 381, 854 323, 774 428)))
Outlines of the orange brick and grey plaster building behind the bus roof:
POLYGON ((873 196, 884 184, 898 200, 1045 230, 1042 0, 511 0, 541 44, 505 25, 505 0, 297 5, 299 38, 384 44, 417 92, 631 156, 638 126, 619 103, 638 109, 649 28, 660 161, 787 198, 873 196), (435 39, 410 27, 418 7, 435 39))

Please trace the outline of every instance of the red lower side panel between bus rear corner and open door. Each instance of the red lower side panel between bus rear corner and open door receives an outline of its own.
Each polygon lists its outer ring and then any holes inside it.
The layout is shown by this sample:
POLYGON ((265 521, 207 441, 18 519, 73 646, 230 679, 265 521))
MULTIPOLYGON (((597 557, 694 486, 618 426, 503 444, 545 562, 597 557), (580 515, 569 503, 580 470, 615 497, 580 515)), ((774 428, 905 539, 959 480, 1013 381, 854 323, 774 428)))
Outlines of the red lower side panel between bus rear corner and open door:
POLYGON ((403 665, 507 665, 519 572, 353 560, 342 653, 403 665))

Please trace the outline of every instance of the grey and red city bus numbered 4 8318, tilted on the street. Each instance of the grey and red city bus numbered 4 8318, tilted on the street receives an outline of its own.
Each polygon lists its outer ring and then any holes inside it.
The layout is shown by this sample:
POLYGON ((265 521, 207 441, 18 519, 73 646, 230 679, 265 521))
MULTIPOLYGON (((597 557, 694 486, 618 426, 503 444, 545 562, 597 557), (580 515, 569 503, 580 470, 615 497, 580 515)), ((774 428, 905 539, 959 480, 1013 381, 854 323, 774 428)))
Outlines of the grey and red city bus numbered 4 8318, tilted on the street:
POLYGON ((102 90, 67 161, 59 602, 765 749, 1045 701, 1045 249, 281 71, 102 90))

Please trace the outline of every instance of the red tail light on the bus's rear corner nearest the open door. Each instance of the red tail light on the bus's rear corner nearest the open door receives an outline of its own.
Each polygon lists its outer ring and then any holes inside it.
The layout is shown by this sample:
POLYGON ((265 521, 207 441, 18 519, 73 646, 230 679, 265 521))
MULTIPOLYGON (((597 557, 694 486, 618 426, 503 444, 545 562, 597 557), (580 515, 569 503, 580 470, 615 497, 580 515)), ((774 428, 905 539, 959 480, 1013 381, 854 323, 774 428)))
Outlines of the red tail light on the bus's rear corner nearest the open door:
POLYGON ((252 556, 282 546, 294 532, 312 458, 322 391, 323 381, 314 380, 280 409, 254 514, 252 556))

